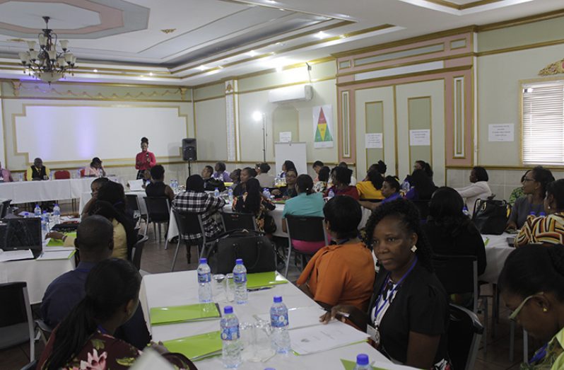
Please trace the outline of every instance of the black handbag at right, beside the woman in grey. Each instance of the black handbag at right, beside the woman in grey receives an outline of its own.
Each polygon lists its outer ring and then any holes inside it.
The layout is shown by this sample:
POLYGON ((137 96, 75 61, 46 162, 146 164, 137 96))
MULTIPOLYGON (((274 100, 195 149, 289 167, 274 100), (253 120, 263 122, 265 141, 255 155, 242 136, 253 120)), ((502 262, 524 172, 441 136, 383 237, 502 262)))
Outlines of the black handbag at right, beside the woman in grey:
POLYGON ((510 206, 505 200, 476 200, 472 221, 480 233, 500 235, 505 231, 510 206))

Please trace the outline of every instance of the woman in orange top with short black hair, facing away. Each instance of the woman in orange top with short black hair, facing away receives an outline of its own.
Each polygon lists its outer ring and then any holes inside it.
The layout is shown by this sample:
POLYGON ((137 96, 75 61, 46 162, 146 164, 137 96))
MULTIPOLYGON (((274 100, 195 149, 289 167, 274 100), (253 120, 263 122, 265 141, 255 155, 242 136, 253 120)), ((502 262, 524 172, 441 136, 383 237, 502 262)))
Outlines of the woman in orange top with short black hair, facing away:
POLYGON ((334 241, 315 253, 298 279, 298 287, 324 308, 337 304, 368 308, 375 279, 370 250, 358 239, 360 204, 338 195, 323 207, 326 228, 334 241))

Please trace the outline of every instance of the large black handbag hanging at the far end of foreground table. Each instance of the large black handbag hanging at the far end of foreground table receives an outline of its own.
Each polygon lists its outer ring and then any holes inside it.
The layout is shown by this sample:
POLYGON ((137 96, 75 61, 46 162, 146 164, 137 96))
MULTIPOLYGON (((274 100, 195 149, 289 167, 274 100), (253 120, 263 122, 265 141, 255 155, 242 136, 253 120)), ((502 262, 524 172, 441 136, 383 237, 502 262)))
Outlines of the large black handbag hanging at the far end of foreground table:
POLYGON ((276 271, 276 251, 269 238, 254 230, 236 229, 223 233, 208 249, 212 274, 233 272, 241 258, 247 273, 276 271))

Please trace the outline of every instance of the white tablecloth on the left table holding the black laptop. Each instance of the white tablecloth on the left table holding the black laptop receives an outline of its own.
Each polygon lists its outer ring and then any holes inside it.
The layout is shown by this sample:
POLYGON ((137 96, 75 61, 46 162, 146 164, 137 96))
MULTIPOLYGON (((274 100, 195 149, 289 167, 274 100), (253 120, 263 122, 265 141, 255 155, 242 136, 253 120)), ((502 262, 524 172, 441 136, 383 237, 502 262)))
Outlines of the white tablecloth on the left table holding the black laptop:
POLYGON ((40 303, 51 282, 74 270, 74 257, 67 260, 21 260, 0 262, 0 283, 27 282, 30 303, 40 303))

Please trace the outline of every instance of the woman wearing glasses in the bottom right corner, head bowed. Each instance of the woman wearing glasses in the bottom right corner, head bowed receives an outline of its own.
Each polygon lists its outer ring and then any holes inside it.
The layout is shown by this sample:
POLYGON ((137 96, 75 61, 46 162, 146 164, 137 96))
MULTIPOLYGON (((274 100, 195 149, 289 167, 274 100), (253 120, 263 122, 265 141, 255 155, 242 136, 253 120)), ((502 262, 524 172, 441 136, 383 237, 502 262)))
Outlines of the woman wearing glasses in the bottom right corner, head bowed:
POLYGON ((521 369, 564 369, 564 246, 514 250, 498 287, 510 319, 545 343, 521 369))

